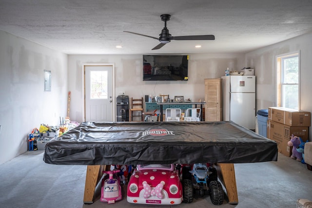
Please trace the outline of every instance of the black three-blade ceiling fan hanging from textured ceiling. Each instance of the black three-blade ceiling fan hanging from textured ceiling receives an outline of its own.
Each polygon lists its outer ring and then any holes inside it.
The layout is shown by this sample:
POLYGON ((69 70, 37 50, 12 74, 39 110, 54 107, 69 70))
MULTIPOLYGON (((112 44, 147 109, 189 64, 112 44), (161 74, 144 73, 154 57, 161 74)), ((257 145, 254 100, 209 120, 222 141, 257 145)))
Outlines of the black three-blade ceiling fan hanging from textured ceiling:
POLYGON ((139 34, 139 33, 134 33, 134 32, 129 32, 129 31, 123 31, 126 33, 132 33, 135 35, 139 35, 139 36, 145 36, 148 38, 154 38, 159 40, 159 44, 156 45, 152 50, 156 50, 156 49, 160 49, 162 46, 164 46, 166 43, 169 43, 171 40, 214 40, 215 36, 214 35, 201 35, 201 36, 176 36, 173 37, 171 36, 171 34, 169 33, 169 30, 167 29, 167 21, 170 20, 171 15, 160 15, 160 18, 162 21, 165 22, 165 27, 161 30, 161 33, 159 34, 159 38, 155 38, 152 36, 146 36, 143 34, 139 34))

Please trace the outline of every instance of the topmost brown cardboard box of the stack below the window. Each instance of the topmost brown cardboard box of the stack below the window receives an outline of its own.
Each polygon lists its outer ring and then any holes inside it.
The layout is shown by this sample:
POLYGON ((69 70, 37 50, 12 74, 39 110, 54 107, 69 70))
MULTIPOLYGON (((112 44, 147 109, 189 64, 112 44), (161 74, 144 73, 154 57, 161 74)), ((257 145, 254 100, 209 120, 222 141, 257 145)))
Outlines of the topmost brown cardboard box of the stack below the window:
POLYGON ((269 107, 268 120, 288 126, 311 126, 311 113, 282 107, 269 107))

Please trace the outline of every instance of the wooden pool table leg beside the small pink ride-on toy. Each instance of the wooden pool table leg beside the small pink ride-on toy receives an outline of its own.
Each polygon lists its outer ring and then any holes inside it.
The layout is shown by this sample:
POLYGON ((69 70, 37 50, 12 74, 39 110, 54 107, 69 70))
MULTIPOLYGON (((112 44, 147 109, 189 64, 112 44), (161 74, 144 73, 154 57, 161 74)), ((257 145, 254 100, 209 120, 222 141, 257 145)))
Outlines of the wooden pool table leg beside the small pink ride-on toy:
POLYGON ((95 165, 87 167, 86 182, 84 185, 84 204, 93 204, 94 193, 99 180, 102 177, 102 171, 106 169, 106 165, 95 165))

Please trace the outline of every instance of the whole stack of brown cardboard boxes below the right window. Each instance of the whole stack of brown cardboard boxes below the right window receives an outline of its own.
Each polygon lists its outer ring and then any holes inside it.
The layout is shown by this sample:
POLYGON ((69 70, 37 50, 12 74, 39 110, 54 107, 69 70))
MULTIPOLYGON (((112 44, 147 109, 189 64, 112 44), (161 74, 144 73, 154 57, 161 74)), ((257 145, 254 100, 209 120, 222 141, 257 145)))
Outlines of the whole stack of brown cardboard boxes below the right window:
POLYGON ((267 137, 276 141, 278 151, 286 156, 292 155, 292 148, 287 145, 291 135, 309 139, 311 113, 282 107, 268 109, 267 137))

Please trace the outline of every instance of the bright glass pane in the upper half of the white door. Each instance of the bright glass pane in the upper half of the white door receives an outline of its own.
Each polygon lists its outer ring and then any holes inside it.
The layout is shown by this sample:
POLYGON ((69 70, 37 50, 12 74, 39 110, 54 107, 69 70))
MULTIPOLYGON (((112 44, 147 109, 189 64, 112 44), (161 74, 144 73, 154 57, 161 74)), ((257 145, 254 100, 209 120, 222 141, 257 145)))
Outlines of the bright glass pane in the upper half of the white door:
POLYGON ((91 71, 91 99, 107 99, 107 71, 91 71))

